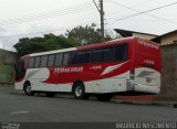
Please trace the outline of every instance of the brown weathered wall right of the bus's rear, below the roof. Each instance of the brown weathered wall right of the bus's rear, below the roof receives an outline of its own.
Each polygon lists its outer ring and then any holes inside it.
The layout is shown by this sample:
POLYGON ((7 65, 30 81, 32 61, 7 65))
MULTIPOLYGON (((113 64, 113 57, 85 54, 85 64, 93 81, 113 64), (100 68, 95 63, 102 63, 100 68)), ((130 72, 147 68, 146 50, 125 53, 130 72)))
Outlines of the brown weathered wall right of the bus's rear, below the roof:
POLYGON ((162 46, 162 90, 157 99, 177 100, 177 45, 162 46))

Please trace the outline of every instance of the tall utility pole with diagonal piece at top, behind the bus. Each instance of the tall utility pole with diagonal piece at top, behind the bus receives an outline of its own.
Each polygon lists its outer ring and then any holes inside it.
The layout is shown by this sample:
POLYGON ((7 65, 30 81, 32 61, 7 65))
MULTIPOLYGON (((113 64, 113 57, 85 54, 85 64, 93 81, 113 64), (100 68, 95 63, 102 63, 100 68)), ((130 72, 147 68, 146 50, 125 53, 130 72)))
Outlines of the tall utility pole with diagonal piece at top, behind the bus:
POLYGON ((100 0, 98 4, 100 7, 97 7, 95 0, 93 0, 95 7, 97 8, 97 11, 100 12, 101 15, 101 36, 102 36, 102 42, 104 42, 104 10, 103 10, 103 0, 100 0))

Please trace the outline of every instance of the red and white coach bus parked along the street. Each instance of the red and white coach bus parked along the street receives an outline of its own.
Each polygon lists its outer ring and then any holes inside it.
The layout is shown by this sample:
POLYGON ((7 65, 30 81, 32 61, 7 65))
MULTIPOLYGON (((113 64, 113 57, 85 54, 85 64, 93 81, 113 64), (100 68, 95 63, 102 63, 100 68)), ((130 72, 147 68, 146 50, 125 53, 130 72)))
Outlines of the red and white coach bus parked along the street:
POLYGON ((24 55, 15 65, 14 87, 28 96, 72 93, 108 101, 115 94, 159 94, 160 72, 159 45, 131 36, 24 55))

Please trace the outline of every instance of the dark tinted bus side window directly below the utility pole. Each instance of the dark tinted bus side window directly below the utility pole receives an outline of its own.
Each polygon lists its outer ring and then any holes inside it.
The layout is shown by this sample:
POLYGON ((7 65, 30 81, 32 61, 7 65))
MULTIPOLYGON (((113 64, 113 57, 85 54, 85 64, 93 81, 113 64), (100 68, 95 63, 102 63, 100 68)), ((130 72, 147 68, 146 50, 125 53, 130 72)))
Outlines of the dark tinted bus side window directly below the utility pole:
POLYGON ((92 63, 103 62, 103 50, 92 51, 92 63))

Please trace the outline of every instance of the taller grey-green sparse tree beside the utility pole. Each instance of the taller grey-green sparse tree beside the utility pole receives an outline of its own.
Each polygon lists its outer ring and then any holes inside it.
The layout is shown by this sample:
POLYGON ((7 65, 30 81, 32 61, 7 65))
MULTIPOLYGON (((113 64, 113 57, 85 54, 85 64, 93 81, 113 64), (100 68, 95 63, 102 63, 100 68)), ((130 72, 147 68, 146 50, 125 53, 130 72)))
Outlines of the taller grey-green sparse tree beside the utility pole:
MULTIPOLYGON (((101 29, 96 29, 96 24, 94 23, 86 26, 82 25, 75 26, 72 30, 67 30, 65 35, 71 39, 75 39, 82 44, 94 44, 102 42, 101 29)), ((112 36, 106 33, 104 40, 111 41, 112 36)))

